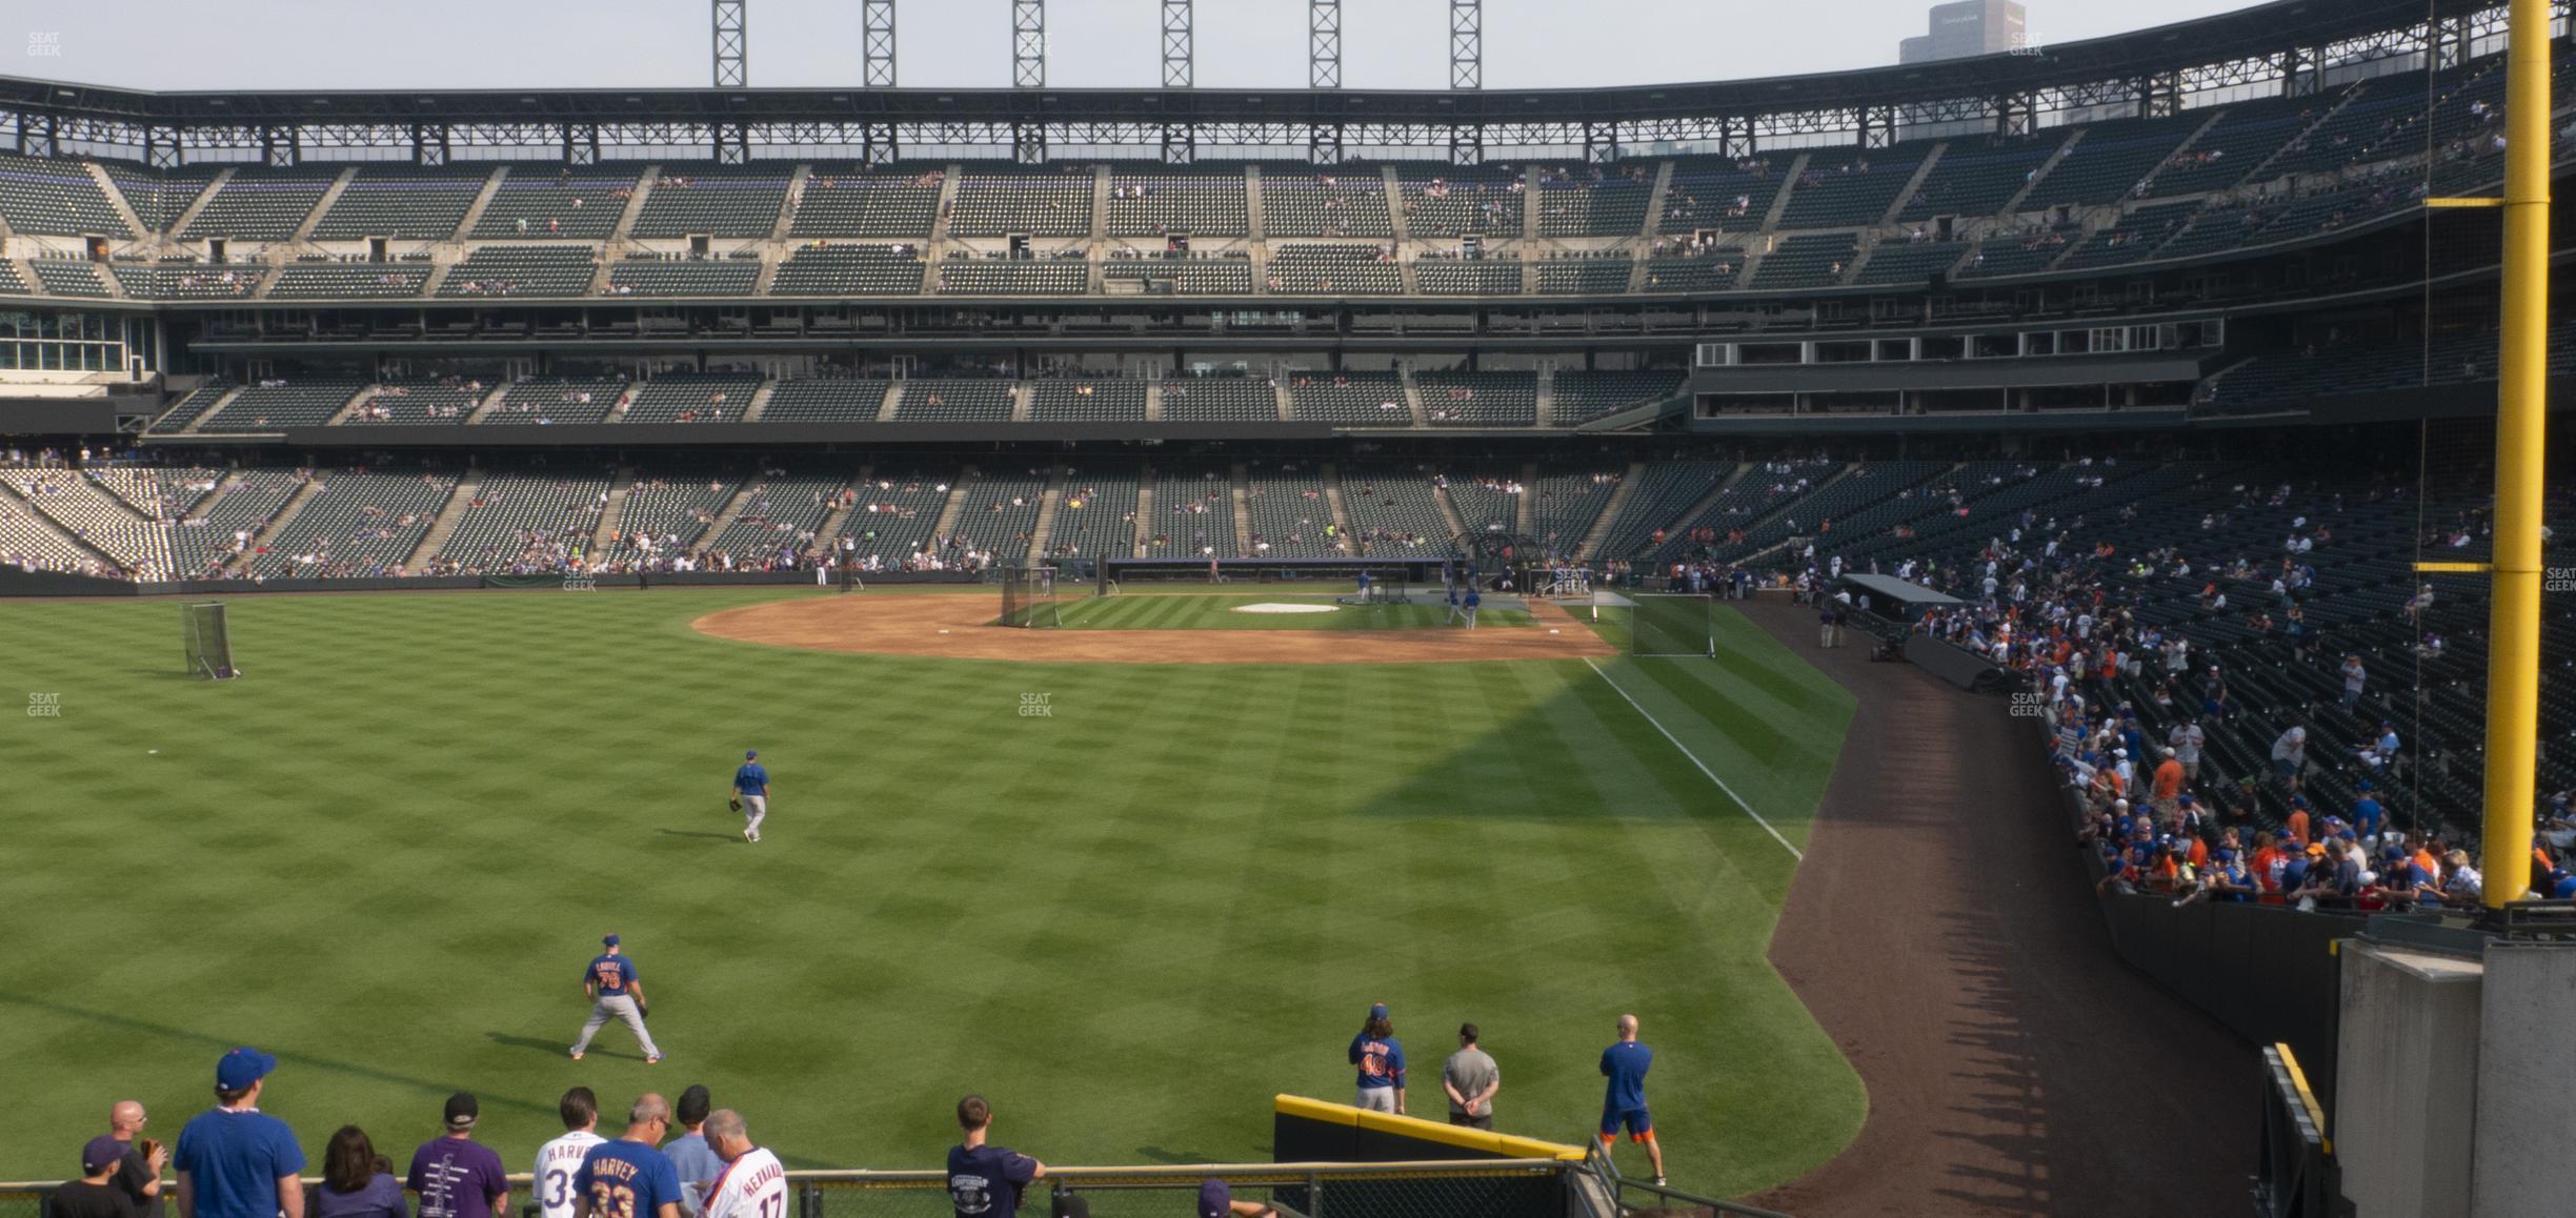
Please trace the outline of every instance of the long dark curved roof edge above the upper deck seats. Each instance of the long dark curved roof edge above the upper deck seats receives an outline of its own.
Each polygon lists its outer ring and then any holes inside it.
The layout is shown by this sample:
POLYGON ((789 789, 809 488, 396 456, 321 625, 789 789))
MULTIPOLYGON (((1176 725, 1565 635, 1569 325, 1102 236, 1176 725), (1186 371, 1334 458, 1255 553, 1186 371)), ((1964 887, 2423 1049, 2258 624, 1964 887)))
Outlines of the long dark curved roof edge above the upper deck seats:
MULTIPOLYGON (((2494 0, 2432 0, 2437 18, 2494 0)), ((2025 95, 2187 67, 2272 59, 2421 26, 2424 0, 2277 0, 2133 33, 1855 72, 1582 90, 224 90, 152 93, 0 77, 0 111, 149 126, 528 124, 528 121, 1229 121, 1229 124, 1618 124, 1777 111, 1850 111, 2025 95)))

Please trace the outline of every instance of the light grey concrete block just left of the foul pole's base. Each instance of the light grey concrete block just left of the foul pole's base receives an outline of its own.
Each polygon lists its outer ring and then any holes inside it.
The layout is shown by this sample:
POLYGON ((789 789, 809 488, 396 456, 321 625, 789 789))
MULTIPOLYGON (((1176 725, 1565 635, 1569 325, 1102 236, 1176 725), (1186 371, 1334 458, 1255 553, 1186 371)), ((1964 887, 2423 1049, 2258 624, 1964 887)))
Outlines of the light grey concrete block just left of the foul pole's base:
POLYGON ((2360 940, 2344 942, 2342 960, 2326 1133, 2344 1197, 2360 1218, 2468 1218, 2483 968, 2360 940))

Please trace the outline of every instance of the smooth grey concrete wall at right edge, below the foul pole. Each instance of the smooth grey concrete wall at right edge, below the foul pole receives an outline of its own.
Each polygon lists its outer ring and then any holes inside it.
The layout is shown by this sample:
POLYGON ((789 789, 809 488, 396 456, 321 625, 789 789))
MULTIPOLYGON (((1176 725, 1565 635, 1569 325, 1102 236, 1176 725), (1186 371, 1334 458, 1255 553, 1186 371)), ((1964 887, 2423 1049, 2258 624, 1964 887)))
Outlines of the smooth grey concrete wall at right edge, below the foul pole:
POLYGON ((2494 942, 2483 989, 2470 1213, 2566 1213, 2576 1197, 2576 945, 2494 942))

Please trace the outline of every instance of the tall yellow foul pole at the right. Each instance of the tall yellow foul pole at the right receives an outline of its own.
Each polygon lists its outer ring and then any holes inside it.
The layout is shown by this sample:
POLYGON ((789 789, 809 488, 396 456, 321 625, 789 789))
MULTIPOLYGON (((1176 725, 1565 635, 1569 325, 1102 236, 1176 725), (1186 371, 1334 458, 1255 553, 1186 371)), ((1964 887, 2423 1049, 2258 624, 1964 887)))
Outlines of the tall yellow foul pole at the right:
POLYGON ((2548 435, 2550 0, 2512 0, 2504 57, 2504 342, 2486 651, 2486 906, 2527 888, 2540 742, 2540 474, 2548 435))

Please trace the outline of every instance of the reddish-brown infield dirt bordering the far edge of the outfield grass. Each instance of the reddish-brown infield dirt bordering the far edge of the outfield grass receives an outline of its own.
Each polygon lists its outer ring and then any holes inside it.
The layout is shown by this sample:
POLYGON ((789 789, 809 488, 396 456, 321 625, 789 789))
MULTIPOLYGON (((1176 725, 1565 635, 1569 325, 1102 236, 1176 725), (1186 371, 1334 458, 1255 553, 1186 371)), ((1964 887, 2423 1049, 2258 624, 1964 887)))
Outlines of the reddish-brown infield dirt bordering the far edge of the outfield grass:
POLYGON ((708 613, 716 639, 881 657, 1046 664, 1425 664, 1618 654, 1561 608, 1530 603, 1535 626, 1430 631, 1020 631, 992 626, 994 597, 799 597, 708 613), (1558 633, 1548 633, 1548 631, 1558 633))

